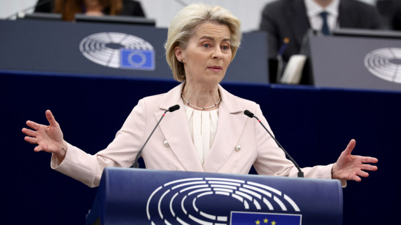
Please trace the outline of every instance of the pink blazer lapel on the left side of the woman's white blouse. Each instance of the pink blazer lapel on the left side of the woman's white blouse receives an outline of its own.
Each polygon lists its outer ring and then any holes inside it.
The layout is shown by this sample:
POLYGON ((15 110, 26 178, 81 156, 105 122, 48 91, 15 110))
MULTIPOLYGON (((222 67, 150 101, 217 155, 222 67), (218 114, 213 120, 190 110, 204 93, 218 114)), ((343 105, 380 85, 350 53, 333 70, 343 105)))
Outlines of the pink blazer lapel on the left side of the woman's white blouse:
MULTIPOLYGON (((160 104, 161 109, 167 110, 176 104, 180 106, 180 109, 173 113, 167 112, 166 116, 161 120, 159 127, 168 141, 171 150, 184 168, 187 171, 203 172, 189 131, 187 116, 181 99, 182 88, 183 84, 164 95, 160 104)), ((159 120, 162 114, 163 112, 154 113, 156 120, 159 120)))

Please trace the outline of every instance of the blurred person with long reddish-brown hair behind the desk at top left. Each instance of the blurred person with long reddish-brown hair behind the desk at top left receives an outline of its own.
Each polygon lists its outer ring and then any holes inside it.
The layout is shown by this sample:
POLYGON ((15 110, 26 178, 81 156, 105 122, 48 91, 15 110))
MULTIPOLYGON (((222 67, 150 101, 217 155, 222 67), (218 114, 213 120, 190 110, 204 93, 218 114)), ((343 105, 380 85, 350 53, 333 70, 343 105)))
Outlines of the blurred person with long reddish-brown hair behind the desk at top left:
POLYGON ((75 14, 145 17, 141 4, 132 0, 38 0, 36 5, 35 13, 59 13, 66 21, 75 14))

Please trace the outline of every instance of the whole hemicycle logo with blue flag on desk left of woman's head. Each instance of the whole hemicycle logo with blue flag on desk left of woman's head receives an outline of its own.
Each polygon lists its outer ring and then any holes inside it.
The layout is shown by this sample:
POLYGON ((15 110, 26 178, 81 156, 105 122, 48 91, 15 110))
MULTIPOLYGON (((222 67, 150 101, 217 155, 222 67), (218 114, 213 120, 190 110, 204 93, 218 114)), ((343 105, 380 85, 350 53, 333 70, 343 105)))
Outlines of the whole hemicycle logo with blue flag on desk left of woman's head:
POLYGON ((134 35, 116 32, 92 34, 81 41, 79 49, 87 59, 103 66, 155 69, 153 46, 134 35))

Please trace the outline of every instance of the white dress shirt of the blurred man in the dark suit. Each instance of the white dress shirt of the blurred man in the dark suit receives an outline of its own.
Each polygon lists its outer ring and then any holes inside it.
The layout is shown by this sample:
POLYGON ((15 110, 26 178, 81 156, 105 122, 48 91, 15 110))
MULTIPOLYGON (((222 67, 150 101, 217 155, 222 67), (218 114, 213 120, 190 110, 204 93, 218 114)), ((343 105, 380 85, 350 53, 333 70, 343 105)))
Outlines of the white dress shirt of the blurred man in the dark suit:
POLYGON ((338 20, 338 7, 339 0, 333 0, 326 8, 321 7, 313 0, 304 0, 306 7, 306 14, 309 18, 311 28, 316 31, 321 31, 323 26, 323 18, 319 15, 322 12, 327 12, 327 25, 332 32, 335 28, 339 27, 338 20))

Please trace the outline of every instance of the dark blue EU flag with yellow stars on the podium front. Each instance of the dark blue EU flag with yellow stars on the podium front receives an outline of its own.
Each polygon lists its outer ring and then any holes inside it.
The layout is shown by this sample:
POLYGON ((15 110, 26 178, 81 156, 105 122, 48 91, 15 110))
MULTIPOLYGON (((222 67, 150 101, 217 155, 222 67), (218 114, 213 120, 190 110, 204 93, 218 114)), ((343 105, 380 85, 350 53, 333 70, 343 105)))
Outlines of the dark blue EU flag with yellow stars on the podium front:
POLYGON ((231 225, 301 225, 301 221, 300 214, 231 212, 231 225))

